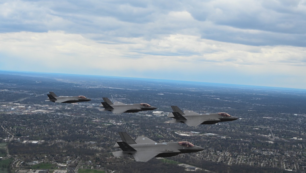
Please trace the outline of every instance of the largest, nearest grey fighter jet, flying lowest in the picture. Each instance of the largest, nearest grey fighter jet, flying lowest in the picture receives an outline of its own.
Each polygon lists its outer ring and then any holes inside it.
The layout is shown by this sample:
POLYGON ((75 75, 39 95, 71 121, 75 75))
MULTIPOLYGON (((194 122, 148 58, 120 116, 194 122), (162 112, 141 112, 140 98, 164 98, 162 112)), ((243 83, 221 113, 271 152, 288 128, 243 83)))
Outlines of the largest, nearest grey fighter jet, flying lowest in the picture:
POLYGON ((130 154, 136 162, 147 162, 153 157, 171 157, 181 153, 199 152, 202 147, 187 141, 157 143, 147 137, 137 137, 134 141, 126 132, 119 132, 122 141, 117 141, 114 147, 122 151, 113 152, 114 157, 130 154))

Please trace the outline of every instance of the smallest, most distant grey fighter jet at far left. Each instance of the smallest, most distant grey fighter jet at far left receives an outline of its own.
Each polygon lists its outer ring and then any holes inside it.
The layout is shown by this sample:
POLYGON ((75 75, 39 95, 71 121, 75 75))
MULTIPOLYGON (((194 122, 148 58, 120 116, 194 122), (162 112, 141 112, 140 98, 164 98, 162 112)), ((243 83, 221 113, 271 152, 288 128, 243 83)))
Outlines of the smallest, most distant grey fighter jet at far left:
POLYGON ((48 100, 50 102, 55 103, 76 103, 76 102, 88 102, 91 99, 86 98, 85 96, 56 96, 54 92, 49 92, 50 94, 47 94, 49 97, 48 100))

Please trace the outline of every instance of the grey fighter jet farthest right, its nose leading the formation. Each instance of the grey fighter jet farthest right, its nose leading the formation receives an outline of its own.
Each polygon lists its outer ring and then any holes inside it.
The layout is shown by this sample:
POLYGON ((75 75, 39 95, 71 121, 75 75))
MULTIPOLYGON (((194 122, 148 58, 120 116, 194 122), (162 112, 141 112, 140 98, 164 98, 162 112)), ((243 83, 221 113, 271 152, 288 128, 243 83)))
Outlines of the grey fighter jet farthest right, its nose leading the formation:
POLYGON ((225 112, 211 113, 211 114, 198 114, 193 111, 181 111, 177 106, 171 106, 172 113, 169 113, 168 118, 174 118, 169 120, 170 123, 185 123, 188 126, 198 126, 200 124, 216 124, 218 122, 233 121, 238 119, 237 117, 230 116, 225 112))

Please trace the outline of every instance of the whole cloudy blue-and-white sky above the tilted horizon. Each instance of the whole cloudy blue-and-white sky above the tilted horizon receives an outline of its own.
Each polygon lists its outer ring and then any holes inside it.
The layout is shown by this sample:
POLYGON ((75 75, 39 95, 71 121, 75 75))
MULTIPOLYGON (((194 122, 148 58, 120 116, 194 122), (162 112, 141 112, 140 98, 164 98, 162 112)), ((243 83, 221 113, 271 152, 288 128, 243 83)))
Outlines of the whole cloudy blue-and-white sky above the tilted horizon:
POLYGON ((0 70, 306 89, 306 0, 2 0, 0 70))

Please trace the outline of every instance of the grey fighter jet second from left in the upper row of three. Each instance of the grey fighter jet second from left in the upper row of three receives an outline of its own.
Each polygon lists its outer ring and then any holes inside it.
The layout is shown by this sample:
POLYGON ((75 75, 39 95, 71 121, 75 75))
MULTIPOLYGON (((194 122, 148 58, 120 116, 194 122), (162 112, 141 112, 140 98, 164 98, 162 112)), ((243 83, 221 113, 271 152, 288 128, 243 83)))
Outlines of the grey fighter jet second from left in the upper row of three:
POLYGON ((103 97, 104 102, 99 107, 99 111, 111 111, 114 114, 121 114, 123 112, 134 113, 139 111, 151 111, 157 107, 151 106, 147 103, 124 104, 121 102, 112 103, 107 97, 103 97))

